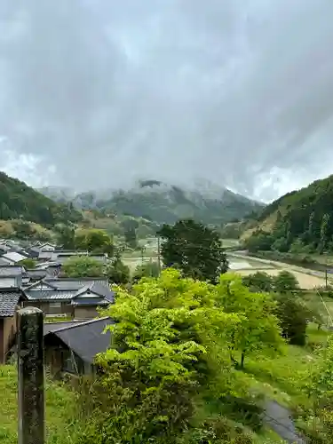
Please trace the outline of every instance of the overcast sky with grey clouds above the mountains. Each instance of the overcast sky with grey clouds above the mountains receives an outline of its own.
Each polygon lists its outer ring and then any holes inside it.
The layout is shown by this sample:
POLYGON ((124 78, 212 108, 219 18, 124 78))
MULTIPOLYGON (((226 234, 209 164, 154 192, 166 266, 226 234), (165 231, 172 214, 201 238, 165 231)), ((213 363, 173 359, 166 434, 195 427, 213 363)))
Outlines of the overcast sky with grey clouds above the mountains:
POLYGON ((1 0, 0 169, 78 190, 333 172, 332 0, 1 0))

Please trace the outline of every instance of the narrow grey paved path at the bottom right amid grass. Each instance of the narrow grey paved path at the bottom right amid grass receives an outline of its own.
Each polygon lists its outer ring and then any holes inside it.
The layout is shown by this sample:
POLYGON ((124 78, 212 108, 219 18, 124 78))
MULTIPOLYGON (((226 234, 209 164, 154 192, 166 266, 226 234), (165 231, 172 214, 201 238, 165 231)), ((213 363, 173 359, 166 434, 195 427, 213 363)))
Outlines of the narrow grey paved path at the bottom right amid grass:
POLYGON ((275 400, 266 400, 264 422, 289 444, 305 444, 305 440, 297 433, 289 409, 275 400))

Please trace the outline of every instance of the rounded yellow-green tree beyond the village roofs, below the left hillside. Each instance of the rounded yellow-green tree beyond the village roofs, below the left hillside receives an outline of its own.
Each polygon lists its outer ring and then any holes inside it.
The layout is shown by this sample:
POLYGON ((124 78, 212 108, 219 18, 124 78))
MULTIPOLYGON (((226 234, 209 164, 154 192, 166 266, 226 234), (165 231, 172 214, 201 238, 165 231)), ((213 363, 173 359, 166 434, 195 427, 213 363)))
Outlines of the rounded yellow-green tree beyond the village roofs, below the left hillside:
POLYGON ((111 256, 114 245, 105 230, 97 228, 81 229, 75 232, 75 249, 86 250, 91 253, 107 253, 111 256))

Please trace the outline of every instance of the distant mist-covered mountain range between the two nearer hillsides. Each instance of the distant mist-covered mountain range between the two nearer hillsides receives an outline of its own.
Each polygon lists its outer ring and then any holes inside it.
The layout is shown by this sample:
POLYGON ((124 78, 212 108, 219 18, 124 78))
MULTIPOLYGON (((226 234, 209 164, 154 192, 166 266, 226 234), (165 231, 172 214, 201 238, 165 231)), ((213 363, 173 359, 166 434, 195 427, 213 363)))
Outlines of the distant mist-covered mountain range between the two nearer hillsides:
POLYGON ((39 191, 57 202, 71 202, 77 209, 125 214, 146 218, 156 224, 173 224, 180 218, 194 218, 204 224, 221 226, 264 206, 242 194, 207 182, 197 187, 179 187, 147 179, 128 190, 109 189, 78 194, 69 188, 49 186, 39 191))

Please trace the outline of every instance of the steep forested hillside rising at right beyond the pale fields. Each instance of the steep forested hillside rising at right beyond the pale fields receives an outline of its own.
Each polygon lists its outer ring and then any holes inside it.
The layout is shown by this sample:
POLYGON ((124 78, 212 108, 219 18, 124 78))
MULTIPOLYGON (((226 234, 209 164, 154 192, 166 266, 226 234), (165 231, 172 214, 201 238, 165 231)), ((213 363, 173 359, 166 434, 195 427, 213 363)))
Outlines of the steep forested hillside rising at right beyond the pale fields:
POLYGON ((250 250, 333 250, 333 176, 268 205, 244 237, 250 250))

